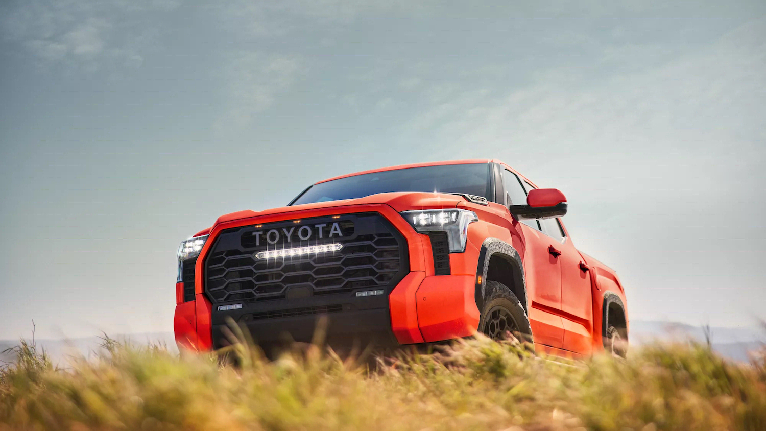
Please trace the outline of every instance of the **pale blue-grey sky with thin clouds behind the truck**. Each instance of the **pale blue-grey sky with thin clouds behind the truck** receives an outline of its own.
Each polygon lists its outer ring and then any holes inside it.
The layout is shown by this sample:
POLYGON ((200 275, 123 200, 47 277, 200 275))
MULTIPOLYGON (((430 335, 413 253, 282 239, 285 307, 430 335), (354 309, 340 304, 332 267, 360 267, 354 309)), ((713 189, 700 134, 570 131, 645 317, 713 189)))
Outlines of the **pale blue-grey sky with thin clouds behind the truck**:
POLYGON ((630 318, 766 319, 766 3, 666 3, 2 2, 0 339, 172 331, 219 215, 460 158, 563 191, 630 318))

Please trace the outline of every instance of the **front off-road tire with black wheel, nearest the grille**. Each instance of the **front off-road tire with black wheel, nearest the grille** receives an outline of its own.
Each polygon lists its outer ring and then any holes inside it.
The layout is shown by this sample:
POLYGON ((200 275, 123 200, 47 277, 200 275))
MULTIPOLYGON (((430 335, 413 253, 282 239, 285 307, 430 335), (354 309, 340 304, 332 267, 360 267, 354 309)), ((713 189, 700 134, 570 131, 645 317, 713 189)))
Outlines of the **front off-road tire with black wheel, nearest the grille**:
POLYGON ((494 340, 510 333, 519 341, 532 342, 532 328, 522 303, 501 282, 486 282, 487 297, 479 319, 479 331, 494 340))

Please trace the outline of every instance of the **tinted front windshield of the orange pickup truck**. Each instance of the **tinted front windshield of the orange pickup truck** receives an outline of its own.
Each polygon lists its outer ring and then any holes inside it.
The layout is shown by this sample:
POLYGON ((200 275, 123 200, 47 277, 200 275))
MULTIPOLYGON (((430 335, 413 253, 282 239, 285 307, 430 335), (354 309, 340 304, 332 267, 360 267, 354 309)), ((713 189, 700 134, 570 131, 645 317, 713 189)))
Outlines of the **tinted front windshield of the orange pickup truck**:
POLYGON ((442 191, 489 200, 489 164, 437 165, 354 175, 314 184, 291 205, 363 198, 388 191, 442 191))

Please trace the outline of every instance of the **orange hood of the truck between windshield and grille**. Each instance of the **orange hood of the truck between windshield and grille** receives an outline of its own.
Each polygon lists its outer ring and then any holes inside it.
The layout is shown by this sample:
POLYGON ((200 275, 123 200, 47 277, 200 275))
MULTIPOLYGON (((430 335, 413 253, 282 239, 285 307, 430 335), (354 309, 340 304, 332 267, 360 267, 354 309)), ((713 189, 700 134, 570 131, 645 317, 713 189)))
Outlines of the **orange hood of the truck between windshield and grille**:
POLYGON ((364 198, 344 199, 342 201, 316 202, 315 204, 293 205, 290 207, 271 208, 264 211, 237 211, 235 213, 224 214, 215 220, 215 224, 225 223, 231 220, 241 220, 243 218, 260 217, 272 214, 288 214, 306 210, 316 210, 318 208, 346 207, 349 205, 365 204, 386 204, 397 212, 417 210, 425 208, 454 208, 457 204, 465 201, 464 198, 455 194, 447 193, 426 193, 426 192, 391 192, 378 193, 365 196, 364 198))

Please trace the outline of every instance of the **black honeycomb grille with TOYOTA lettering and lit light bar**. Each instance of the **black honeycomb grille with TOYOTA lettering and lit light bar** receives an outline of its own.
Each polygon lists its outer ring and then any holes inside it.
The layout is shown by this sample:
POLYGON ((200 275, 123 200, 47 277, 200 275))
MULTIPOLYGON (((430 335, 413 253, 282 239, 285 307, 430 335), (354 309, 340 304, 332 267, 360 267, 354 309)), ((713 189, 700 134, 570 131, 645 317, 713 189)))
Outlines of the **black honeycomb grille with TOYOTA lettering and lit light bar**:
POLYGON ((306 290, 309 295, 317 296, 356 289, 388 289, 408 272, 404 238, 380 214, 346 214, 336 219, 296 221, 298 223, 289 220, 221 232, 205 261, 208 298, 213 303, 290 299, 293 287, 299 288, 293 293, 301 292, 301 296, 306 290), (309 232, 305 228, 301 230, 306 226, 311 228, 311 237, 301 240, 299 233, 305 238, 309 232), (290 233, 289 241, 286 233, 290 233), (270 240, 274 240, 273 243, 270 240), (342 250, 268 260, 255 256, 265 250, 331 242, 342 243, 342 250))

